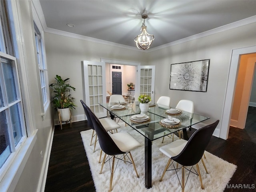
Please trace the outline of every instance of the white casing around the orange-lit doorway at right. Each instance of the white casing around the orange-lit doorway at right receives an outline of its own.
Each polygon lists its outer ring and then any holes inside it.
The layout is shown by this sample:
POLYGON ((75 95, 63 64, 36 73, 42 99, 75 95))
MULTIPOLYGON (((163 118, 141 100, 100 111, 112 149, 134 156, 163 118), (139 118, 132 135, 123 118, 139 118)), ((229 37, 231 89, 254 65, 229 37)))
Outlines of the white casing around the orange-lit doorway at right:
POLYGON ((228 84, 226 87, 226 96, 224 100, 224 107, 222 112, 222 120, 220 121, 220 135, 222 139, 228 138, 231 110, 234 101, 234 91, 236 86, 236 79, 238 74, 238 68, 240 64, 240 55, 250 54, 256 52, 256 46, 234 49, 231 54, 230 69, 228 74, 228 84))

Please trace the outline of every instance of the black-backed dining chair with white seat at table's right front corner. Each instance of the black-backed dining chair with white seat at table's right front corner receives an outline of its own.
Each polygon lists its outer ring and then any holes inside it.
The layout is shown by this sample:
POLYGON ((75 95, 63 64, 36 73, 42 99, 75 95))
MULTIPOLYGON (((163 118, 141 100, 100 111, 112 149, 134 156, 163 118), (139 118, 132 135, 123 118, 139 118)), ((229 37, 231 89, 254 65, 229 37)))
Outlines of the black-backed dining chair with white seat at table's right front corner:
MULTIPOLYGON (((204 150, 206 149, 206 146, 210 142, 210 138, 212 137, 212 134, 218 125, 219 120, 216 122, 204 126, 203 128, 200 128, 192 134, 190 139, 188 141, 180 139, 176 140, 168 145, 162 146, 160 148, 160 151, 168 156, 170 159, 164 169, 164 172, 162 174, 162 177, 160 181, 162 181, 164 174, 166 173, 167 169, 173 165, 174 169, 176 170, 174 166, 174 161, 177 162, 178 164, 182 165, 182 192, 184 192, 185 188, 185 169, 188 170, 189 172, 192 172, 191 169, 194 165, 196 165, 197 168, 197 174, 200 179, 201 183, 201 188, 204 189, 203 183, 202 183, 202 178, 198 166, 198 162, 202 159, 202 156, 204 154, 204 150), (190 169, 187 167, 191 166, 190 169)), ((202 161, 203 162, 203 161, 202 161)), ((204 163, 203 163, 204 164, 204 163)), ((205 165, 204 165, 205 166, 205 165)), ((194 172, 192 172, 194 173, 194 172)), ((177 174, 177 172, 176 172, 177 174)), ((178 174, 177 174, 178 176, 178 174)), ((179 182, 180 179, 178 178, 179 182)))

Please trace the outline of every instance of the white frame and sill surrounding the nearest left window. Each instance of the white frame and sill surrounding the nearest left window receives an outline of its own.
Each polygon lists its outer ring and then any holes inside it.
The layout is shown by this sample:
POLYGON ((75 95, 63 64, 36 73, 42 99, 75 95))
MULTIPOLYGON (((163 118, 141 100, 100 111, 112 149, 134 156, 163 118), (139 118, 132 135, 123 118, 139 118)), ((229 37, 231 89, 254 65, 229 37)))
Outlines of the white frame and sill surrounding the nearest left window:
POLYGON ((1 22, 4 41, 6 43, 6 53, 16 57, 17 71, 19 76, 18 82, 21 88, 24 115, 24 127, 26 138, 20 140, 18 148, 13 152, 9 159, 1 168, 0 186, 1 191, 14 191, 16 184, 22 174, 26 162, 34 148, 37 137, 36 120, 34 106, 32 101, 32 89, 28 75, 28 61, 26 48, 24 44, 24 35, 22 29, 22 17, 20 12, 20 2, 14 0, 1 0, 1 22), (3 14, 2 14, 3 13, 3 14), (3 17, 2 17, 3 16, 3 17), (6 30, 8 31, 7 34, 6 30), (9 35, 9 36, 8 36, 9 35))

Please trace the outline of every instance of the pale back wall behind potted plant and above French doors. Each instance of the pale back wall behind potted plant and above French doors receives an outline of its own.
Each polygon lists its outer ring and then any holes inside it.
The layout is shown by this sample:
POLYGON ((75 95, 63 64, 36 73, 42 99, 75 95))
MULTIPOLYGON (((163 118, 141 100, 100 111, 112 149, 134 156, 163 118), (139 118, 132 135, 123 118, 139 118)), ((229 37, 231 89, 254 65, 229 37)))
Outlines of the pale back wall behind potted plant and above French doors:
MULTIPOLYGON (((86 40, 45 33, 46 59, 48 63, 49 83, 54 81, 56 74, 63 78, 70 78, 70 84, 76 88, 72 91, 75 98, 76 110, 72 111, 72 120, 84 120, 84 109, 80 99, 84 98, 83 76, 81 61, 100 61, 101 58, 118 61, 141 62, 144 52, 118 48, 86 40)), ((57 116, 55 116, 57 118, 57 116)))

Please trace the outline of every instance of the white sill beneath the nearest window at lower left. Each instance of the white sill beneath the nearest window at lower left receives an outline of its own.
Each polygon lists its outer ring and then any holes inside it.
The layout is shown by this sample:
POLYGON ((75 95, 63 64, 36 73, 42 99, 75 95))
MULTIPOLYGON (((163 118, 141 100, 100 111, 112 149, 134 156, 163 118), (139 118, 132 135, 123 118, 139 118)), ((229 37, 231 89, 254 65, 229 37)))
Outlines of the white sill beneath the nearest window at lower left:
POLYGON ((30 156, 34 144, 36 143, 36 133, 37 130, 35 130, 32 136, 26 139, 17 156, 15 157, 14 161, 12 162, 10 168, 2 178, 0 182, 1 192, 15 190, 19 178, 22 174, 22 171, 26 165, 26 162, 28 161, 28 157, 30 156))

